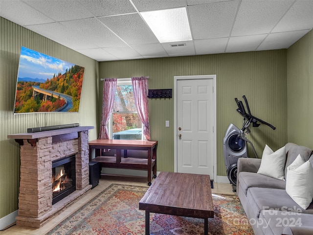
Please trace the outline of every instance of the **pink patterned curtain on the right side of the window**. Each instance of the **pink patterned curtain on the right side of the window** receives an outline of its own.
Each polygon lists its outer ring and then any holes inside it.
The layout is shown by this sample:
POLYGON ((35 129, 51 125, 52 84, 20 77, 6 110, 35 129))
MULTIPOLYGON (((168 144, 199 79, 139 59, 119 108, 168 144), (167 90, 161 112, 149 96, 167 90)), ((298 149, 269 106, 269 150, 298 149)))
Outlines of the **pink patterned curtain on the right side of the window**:
POLYGON ((138 117, 143 123, 143 136, 150 141, 148 77, 132 77, 132 85, 138 117))

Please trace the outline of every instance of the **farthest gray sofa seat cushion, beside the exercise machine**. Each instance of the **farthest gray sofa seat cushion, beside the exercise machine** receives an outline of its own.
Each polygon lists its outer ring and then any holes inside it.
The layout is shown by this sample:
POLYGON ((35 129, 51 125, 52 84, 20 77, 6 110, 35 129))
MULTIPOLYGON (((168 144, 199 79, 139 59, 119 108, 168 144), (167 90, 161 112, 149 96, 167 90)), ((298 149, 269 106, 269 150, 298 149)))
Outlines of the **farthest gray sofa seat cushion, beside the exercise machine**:
POLYGON ((266 175, 252 172, 240 172, 238 175, 238 180, 245 194, 250 187, 280 189, 285 189, 286 187, 286 181, 277 180, 266 175))

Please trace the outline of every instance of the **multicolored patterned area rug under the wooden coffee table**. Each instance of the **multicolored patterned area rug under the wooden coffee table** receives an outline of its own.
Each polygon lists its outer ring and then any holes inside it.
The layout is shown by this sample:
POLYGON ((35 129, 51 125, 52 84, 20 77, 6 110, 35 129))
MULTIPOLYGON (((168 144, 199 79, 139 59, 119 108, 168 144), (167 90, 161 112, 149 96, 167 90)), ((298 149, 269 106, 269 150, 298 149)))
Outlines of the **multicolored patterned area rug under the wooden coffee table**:
MULTIPOLYGON (((138 205, 147 189, 112 184, 46 235, 143 235, 145 211, 138 205)), ((237 196, 213 194, 213 204, 210 235, 253 235, 237 196)), ((151 235, 201 235, 203 225, 199 218, 150 213, 151 235)))

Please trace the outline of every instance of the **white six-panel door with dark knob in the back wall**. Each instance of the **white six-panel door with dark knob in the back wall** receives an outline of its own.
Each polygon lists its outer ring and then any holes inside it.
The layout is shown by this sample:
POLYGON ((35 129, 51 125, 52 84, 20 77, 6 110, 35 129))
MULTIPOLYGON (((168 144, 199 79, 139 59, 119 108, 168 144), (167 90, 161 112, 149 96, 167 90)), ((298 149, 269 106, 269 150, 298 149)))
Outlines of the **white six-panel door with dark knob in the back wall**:
POLYGON ((177 169, 214 176, 213 79, 177 80, 177 169))

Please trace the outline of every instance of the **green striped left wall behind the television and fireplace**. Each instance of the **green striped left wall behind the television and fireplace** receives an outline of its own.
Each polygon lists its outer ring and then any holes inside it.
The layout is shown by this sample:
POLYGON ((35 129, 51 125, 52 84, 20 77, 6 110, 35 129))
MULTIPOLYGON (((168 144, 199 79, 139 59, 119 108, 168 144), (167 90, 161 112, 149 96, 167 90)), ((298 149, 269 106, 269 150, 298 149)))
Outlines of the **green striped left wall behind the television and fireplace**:
POLYGON ((80 123, 95 126, 89 138, 97 138, 98 62, 0 17, 0 218, 18 209, 20 146, 7 135, 29 127, 80 123), (13 115, 21 46, 85 67, 78 113, 13 115))

